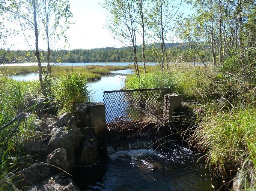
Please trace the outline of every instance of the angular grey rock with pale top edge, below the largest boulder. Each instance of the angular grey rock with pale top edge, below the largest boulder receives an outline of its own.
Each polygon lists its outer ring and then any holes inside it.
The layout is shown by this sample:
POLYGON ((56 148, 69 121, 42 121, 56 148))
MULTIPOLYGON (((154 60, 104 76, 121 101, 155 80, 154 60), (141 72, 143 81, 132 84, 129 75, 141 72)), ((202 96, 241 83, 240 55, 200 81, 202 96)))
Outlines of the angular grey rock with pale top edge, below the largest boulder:
POLYGON ((69 163, 67 159, 67 151, 65 148, 57 148, 51 154, 47 155, 47 163, 68 172, 69 163))

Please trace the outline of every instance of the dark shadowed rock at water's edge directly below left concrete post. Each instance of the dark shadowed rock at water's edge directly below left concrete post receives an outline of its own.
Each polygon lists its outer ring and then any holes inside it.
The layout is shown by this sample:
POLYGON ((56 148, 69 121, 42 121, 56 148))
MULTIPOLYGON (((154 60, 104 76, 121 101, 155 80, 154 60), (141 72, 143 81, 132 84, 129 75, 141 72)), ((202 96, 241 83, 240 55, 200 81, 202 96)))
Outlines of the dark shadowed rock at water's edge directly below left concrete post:
POLYGON ((99 160, 98 145, 93 135, 87 136, 81 147, 81 156, 78 158, 78 166, 93 164, 99 160))

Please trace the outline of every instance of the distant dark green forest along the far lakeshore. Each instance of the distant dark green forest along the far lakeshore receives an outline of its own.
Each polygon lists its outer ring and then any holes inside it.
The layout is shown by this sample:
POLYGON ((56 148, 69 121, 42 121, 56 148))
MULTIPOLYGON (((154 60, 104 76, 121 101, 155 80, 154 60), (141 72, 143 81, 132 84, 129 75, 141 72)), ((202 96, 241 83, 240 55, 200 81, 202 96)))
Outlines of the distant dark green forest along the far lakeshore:
MULTIPOLYGON (((150 49, 151 44, 148 45, 150 49)), ((187 44, 166 43, 167 49, 172 51, 170 59, 175 63, 192 62, 187 51, 187 44)), ((203 51, 203 50, 202 50, 203 51)), ((138 61, 142 62, 141 47, 137 48, 138 61)), ((45 52, 41 52, 42 62, 47 62, 45 52)), ((36 62, 36 57, 32 50, 5 50, 0 53, 0 64, 36 62)), ((146 51, 146 62, 156 62, 153 55, 146 51)), ((74 50, 53 50, 51 52, 50 62, 133 62, 133 52, 129 48, 106 47, 99 49, 74 49, 74 50)), ((204 55, 196 57, 195 62, 211 62, 211 56, 208 51, 204 55)))

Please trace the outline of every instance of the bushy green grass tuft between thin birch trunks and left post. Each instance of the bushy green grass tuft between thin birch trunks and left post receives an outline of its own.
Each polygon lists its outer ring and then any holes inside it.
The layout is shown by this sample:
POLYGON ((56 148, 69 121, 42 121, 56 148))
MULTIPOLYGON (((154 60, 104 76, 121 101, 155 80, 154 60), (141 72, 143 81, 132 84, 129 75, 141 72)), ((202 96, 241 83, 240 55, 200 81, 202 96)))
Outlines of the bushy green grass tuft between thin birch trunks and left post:
POLYGON ((74 111, 75 104, 89 101, 90 92, 87 90, 87 78, 75 73, 62 76, 53 81, 51 91, 59 105, 59 113, 74 111))

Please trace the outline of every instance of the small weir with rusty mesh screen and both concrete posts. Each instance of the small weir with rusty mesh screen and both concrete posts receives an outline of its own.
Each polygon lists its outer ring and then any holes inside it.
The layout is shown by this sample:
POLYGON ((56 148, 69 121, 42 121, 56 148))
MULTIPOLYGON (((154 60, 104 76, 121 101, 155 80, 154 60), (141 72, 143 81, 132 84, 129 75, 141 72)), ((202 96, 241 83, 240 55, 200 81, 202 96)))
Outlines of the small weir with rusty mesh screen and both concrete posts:
POLYGON ((166 92, 167 88, 103 92, 103 103, 88 105, 98 144, 107 142, 115 151, 151 148, 181 106, 180 95, 166 92))

